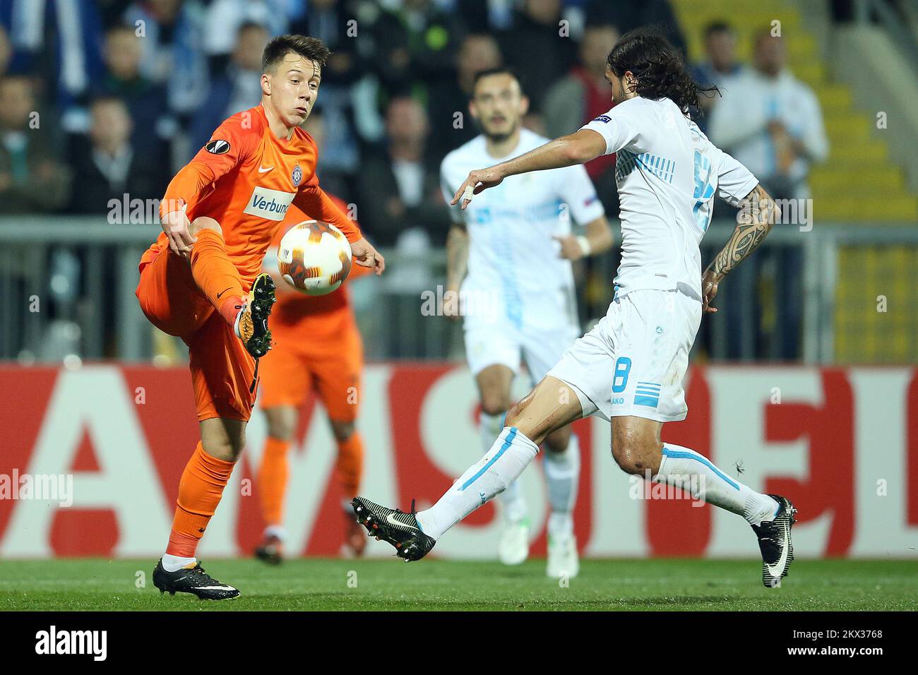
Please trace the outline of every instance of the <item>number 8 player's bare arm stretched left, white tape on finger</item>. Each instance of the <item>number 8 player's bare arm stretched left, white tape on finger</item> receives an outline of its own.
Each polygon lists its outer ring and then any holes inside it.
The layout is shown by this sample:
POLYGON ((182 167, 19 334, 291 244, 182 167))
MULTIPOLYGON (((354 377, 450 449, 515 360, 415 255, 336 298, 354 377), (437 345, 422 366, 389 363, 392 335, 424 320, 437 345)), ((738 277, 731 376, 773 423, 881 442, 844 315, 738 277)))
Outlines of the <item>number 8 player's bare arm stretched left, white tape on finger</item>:
POLYGON ((535 150, 514 157, 507 162, 501 162, 487 169, 478 169, 468 174, 463 184, 456 190, 450 204, 462 200, 461 207, 465 208, 472 201, 472 195, 477 195, 488 187, 494 187, 509 175, 526 174, 530 171, 543 169, 560 169, 562 166, 582 164, 599 157, 606 152, 606 140, 598 131, 580 129, 576 133, 562 136, 554 141, 548 141, 535 150))

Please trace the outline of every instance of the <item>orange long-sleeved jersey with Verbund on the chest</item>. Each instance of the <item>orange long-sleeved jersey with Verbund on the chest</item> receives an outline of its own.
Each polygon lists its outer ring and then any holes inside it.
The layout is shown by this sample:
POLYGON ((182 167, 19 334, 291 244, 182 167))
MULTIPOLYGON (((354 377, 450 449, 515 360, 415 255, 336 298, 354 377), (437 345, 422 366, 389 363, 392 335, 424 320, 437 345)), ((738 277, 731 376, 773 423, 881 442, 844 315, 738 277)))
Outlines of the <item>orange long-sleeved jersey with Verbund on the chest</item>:
MULTIPOLYGON (((229 259, 246 287, 258 274, 264 253, 280 230, 291 205, 311 218, 330 222, 349 242, 362 234, 319 187, 316 142, 303 129, 289 140, 268 126, 261 105, 225 120, 190 163, 175 174, 161 211, 175 210, 185 199, 189 220, 217 220, 229 259)), ((167 249, 161 234, 140 258, 140 269, 167 249)))

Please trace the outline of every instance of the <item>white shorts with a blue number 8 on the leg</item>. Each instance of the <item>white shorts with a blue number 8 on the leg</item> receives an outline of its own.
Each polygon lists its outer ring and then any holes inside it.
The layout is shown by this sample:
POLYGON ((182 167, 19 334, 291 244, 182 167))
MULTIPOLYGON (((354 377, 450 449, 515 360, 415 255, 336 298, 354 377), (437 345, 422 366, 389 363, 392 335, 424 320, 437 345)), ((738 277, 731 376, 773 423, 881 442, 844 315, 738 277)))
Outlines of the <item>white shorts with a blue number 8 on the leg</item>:
POLYGON ((548 375, 577 392, 584 417, 684 420, 682 378, 700 322, 697 299, 676 290, 633 290, 613 300, 548 375))

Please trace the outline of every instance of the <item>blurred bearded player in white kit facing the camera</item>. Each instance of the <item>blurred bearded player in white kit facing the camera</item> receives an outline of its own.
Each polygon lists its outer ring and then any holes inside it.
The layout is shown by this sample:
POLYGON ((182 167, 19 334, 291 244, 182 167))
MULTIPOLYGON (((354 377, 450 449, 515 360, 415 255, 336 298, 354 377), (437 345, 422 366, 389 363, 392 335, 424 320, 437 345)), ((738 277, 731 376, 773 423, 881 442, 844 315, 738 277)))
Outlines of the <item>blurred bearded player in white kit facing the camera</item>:
MULTIPOLYGON (((505 68, 476 73, 469 109, 481 135, 446 155, 441 165, 449 202, 470 171, 533 150, 548 139, 521 128, 529 107, 519 80, 505 68)), ((465 355, 481 401, 484 451, 504 427, 513 377, 525 363, 532 385, 541 380, 580 335, 571 260, 612 245, 605 211, 579 164, 514 176, 463 210, 453 207, 446 242, 443 313, 462 316, 465 355), (585 225, 574 236, 571 220, 585 225), (467 274, 466 274, 467 273, 467 274)), ((532 386, 531 385, 531 386, 532 386)), ((545 436, 544 475, 551 514, 551 577, 577 576, 572 512, 577 501, 580 451, 563 427, 545 436)), ((519 482, 500 495, 503 532, 498 557, 518 565, 529 555, 529 518, 519 482)))

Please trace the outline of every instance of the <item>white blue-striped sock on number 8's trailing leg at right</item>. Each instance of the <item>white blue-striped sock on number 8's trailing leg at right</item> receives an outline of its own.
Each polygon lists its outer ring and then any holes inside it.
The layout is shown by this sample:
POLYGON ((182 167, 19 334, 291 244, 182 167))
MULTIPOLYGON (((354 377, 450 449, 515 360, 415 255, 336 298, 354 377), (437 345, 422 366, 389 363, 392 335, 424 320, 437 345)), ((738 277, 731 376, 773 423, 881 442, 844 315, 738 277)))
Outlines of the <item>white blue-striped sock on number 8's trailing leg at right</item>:
POLYGON ((681 445, 663 445, 663 460, 654 480, 689 491, 694 499, 743 516, 753 525, 770 521, 778 502, 750 489, 715 467, 710 459, 681 445))

